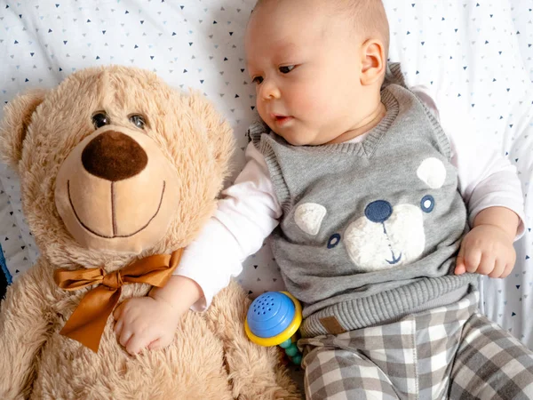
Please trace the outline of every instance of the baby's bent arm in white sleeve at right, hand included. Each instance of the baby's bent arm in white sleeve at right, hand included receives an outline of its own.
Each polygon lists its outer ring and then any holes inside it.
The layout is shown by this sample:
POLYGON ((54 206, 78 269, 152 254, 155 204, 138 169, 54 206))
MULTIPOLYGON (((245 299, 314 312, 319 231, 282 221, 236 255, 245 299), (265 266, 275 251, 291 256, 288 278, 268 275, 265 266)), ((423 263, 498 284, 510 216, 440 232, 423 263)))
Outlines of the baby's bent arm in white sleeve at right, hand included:
POLYGON ((447 102, 441 102, 436 110, 427 93, 420 98, 441 116, 472 227, 461 244, 455 273, 508 276, 516 257, 513 241, 524 231, 523 196, 516 169, 490 145, 486 135, 476 131, 465 113, 447 102))

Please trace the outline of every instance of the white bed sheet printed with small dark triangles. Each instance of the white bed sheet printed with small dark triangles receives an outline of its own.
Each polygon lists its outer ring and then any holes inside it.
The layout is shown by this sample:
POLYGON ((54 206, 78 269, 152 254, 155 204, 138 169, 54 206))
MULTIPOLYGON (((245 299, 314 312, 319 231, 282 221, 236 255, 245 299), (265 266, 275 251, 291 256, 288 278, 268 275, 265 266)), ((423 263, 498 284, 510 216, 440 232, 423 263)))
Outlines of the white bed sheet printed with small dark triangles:
MULTIPOLYGON (((235 128, 243 164, 245 131, 256 117, 245 71, 243 29, 254 0, 0 0, 0 100, 53 87, 75 71, 118 63, 155 70, 170 84, 202 90, 235 128)), ((410 84, 426 84, 437 103, 465 109, 488 143, 517 166, 526 196, 527 233, 505 281, 484 280, 484 311, 533 348, 533 170, 531 0, 385 0, 391 60, 410 84)), ((1 115, 0 115, 1 116, 1 115)), ((482 143, 480 144, 483 145, 482 143)), ((16 175, 0 166, 0 239, 16 279, 36 260, 20 212, 16 175), (4 190, 4 193, 2 193, 4 190), (9 244, 8 244, 9 242, 9 244)), ((268 246, 246 261, 238 280, 251 295, 282 288, 268 246)))

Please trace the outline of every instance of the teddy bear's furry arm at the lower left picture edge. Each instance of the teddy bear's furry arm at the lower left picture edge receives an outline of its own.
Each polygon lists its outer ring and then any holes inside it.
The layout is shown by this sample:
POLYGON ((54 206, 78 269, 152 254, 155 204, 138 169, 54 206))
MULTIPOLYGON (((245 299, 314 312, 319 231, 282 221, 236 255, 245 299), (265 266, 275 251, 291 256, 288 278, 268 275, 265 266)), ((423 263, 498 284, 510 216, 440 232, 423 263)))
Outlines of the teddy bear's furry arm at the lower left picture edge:
POLYGON ((37 262, 8 287, 0 304, 0 398, 28 398, 38 368, 38 354, 52 329, 52 269, 37 262))

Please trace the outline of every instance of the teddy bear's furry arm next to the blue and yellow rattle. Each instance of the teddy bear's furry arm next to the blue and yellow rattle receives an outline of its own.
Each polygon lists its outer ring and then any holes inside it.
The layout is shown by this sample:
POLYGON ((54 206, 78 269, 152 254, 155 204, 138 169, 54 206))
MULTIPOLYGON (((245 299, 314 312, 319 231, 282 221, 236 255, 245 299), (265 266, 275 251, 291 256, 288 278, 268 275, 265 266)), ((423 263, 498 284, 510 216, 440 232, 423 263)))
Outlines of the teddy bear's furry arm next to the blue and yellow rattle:
POLYGON ((282 364, 279 348, 263 348, 248 339, 244 319, 251 300, 232 282, 219 292, 206 312, 211 330, 222 340, 235 398, 300 399, 282 364))

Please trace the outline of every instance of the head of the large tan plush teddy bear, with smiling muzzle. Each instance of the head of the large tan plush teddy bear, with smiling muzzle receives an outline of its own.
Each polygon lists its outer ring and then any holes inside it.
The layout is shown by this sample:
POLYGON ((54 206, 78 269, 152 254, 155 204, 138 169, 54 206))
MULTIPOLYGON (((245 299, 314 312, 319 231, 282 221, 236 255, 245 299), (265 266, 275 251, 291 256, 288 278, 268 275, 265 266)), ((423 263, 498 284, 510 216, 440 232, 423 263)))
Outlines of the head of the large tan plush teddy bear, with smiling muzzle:
POLYGON ((176 250, 214 210, 233 135, 199 93, 137 68, 88 68, 4 111, 0 153, 58 265, 176 250))

